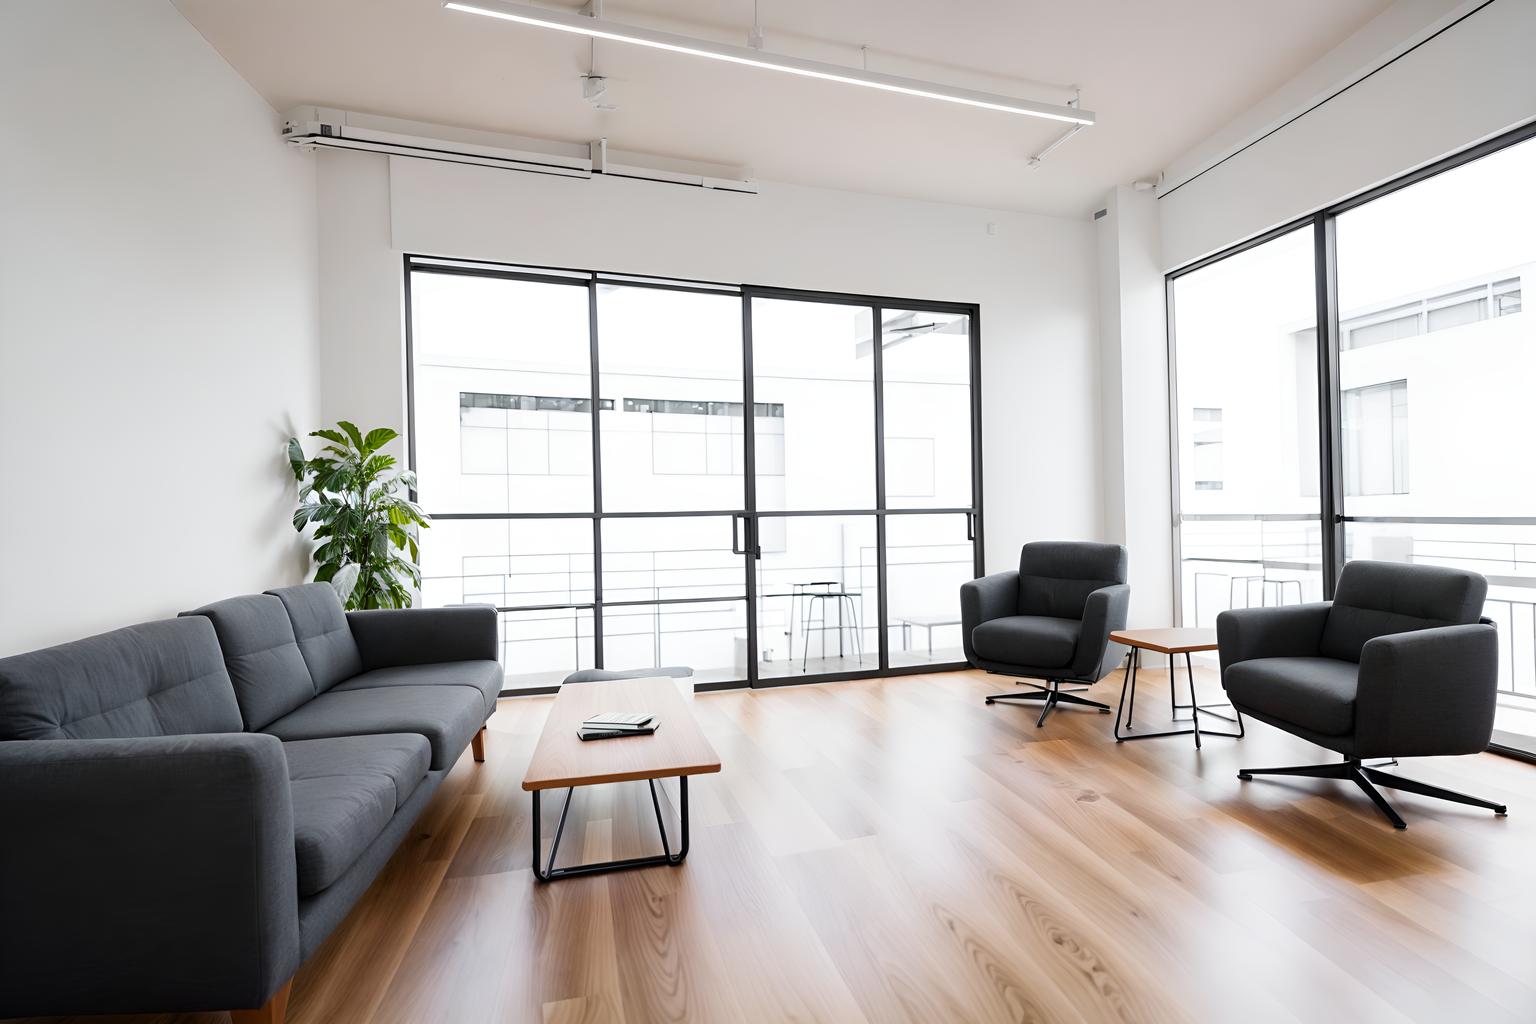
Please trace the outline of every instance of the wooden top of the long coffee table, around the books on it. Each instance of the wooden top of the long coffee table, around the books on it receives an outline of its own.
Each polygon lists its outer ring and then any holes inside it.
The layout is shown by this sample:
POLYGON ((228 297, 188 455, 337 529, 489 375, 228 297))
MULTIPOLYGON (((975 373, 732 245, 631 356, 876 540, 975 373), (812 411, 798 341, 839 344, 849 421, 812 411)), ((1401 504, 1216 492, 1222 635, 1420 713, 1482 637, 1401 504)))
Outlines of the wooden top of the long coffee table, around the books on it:
POLYGON ((679 680, 613 679, 561 686, 522 788, 564 789, 717 771, 720 755, 699 731, 679 680), (659 718, 659 728, 651 735, 578 740, 581 723, 604 711, 648 711, 659 718))

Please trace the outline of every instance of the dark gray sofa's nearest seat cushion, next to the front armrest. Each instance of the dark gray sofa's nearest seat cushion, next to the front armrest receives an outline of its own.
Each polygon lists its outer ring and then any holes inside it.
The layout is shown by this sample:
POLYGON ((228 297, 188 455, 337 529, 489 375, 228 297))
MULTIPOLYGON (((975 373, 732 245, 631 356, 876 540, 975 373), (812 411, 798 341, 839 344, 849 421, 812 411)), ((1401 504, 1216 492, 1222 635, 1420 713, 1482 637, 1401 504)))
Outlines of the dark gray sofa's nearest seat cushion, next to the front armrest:
POLYGON ((432 758, 425 737, 412 734, 296 740, 283 751, 301 897, 352 867, 416 792, 432 758))

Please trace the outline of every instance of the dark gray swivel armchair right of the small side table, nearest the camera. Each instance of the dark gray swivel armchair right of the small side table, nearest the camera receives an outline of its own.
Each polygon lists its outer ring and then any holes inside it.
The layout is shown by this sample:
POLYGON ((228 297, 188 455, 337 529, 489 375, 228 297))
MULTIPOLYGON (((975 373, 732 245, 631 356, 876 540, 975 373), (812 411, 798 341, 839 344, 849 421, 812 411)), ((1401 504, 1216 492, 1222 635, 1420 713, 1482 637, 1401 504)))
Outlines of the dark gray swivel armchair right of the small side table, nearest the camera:
POLYGON ((1376 786, 1504 814, 1504 804, 1361 763, 1476 754, 1488 745, 1499 642, 1481 619, 1487 593, 1476 573, 1350 562, 1332 602, 1221 613, 1221 685, 1232 705, 1344 755, 1329 765, 1244 768, 1238 778, 1349 780, 1399 829, 1407 824, 1376 786))

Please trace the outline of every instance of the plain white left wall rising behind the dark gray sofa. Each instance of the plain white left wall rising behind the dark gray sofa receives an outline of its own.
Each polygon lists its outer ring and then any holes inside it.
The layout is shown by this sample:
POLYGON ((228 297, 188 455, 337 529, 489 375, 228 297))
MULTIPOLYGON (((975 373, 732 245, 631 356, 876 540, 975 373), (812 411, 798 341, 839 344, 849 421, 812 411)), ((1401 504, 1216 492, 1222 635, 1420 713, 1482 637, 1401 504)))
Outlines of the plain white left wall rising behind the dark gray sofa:
POLYGON ((0 9, 0 654, 298 582, 315 173, 166 0, 0 9))

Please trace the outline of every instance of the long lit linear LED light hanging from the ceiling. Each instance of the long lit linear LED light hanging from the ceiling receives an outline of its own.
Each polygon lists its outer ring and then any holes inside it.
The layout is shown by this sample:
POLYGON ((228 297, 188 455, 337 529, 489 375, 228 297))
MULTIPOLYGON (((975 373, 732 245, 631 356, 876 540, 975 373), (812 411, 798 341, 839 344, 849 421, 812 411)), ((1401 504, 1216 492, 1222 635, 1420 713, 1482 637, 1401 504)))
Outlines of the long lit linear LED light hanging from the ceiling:
POLYGON ((882 89, 885 92, 900 92, 909 97, 945 100, 948 103, 977 106, 986 111, 1005 111, 1008 114, 1043 117, 1051 121, 1066 121, 1068 124, 1094 123, 1094 114, 1091 111, 1081 111, 1075 106, 1035 103, 1034 100, 1018 100, 1014 97, 994 95, 991 92, 977 92, 974 89, 942 86, 932 81, 922 81, 919 78, 882 75, 874 71, 860 71, 857 68, 826 64, 817 60, 785 57, 783 54, 770 54, 751 46, 731 46, 730 43, 716 43, 713 40, 693 38, 690 35, 657 32, 654 29, 642 29, 631 25, 616 25, 614 21, 608 21, 601 17, 588 17, 585 14, 573 14, 570 11, 535 8, 525 3, 502 3, 501 0, 449 0, 442 6, 450 11, 482 14, 488 18, 518 21, 519 25, 535 25, 538 28, 554 29, 558 32, 574 32, 576 35, 607 38, 616 43, 633 43, 636 46, 665 49, 674 54, 691 54, 694 57, 707 57, 710 60, 723 60, 731 64, 746 64, 748 68, 768 68, 770 71, 783 71, 803 78, 843 81, 851 86, 865 86, 866 89, 882 89))

